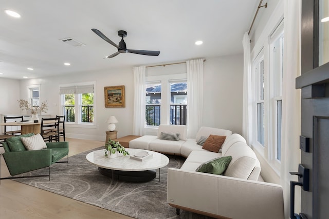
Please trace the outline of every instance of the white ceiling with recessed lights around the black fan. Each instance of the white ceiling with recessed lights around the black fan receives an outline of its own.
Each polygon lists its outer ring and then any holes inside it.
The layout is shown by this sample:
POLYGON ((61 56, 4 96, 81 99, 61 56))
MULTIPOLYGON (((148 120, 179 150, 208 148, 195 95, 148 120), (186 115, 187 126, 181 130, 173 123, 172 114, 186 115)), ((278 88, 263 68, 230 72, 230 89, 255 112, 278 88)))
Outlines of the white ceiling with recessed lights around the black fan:
POLYGON ((259 0, 0 0, 0 78, 23 79, 152 65, 243 53, 259 0), (21 18, 8 16, 10 9, 21 18), (127 49, 159 56, 119 54, 91 29, 127 49), (60 39, 74 38, 74 47, 60 39), (202 40, 203 45, 194 42, 202 40), (70 66, 64 66, 68 62, 70 66), (34 70, 27 70, 28 67, 34 70))

